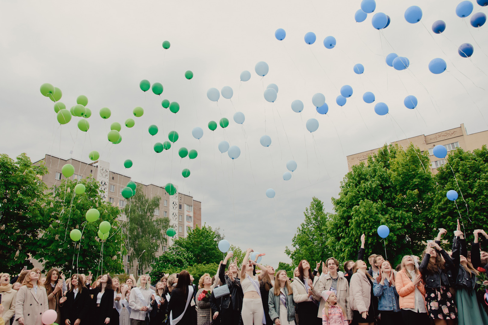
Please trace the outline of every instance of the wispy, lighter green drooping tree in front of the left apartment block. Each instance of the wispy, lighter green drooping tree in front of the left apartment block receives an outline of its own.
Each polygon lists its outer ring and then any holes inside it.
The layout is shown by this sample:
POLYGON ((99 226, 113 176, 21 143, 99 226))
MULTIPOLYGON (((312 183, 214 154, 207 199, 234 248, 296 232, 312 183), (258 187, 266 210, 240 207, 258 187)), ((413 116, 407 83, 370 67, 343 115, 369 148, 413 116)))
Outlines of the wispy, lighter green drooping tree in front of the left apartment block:
POLYGON ((169 218, 154 215, 154 210, 159 209, 161 197, 147 198, 141 184, 137 185, 134 195, 125 205, 125 215, 128 220, 127 245, 131 250, 132 263, 139 263, 139 268, 149 266, 162 243, 166 243, 164 236, 169 228, 169 218), (142 252, 145 252, 142 254, 142 252), (142 254, 142 255, 141 255, 142 254))

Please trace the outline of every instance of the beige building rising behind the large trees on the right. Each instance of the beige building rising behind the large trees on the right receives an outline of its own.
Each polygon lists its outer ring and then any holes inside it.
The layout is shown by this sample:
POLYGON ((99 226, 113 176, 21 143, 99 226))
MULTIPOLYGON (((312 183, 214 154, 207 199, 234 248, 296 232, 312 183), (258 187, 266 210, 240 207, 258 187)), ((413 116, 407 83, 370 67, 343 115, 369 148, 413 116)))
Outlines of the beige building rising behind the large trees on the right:
MULTIPOLYGON (((432 150, 434 146, 443 145, 447 148, 447 152, 458 147, 462 148, 464 151, 472 152, 474 149, 479 149, 483 145, 488 145, 488 131, 468 134, 464 124, 461 124, 459 128, 429 135, 417 135, 408 139, 392 142, 392 144, 395 143, 398 143, 398 145, 403 148, 407 148, 410 143, 413 143, 414 146, 419 147, 422 152, 428 150, 431 162, 430 168, 433 172, 435 172, 436 168, 444 165, 446 161, 433 155, 432 150)), ((351 166, 358 165, 362 161, 367 163, 367 157, 378 153, 378 150, 379 148, 376 148, 363 153, 356 153, 347 156, 349 172, 352 170, 351 166)))

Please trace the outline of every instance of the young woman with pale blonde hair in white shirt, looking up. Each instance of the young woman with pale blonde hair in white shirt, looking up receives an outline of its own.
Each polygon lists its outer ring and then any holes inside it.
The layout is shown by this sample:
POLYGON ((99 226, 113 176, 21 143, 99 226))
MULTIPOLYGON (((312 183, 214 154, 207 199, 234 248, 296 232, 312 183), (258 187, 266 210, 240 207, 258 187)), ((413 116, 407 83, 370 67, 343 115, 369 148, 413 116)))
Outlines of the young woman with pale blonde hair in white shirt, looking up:
POLYGON ((146 317, 149 318, 151 311, 152 292, 147 277, 141 275, 137 280, 137 287, 130 290, 129 307, 131 325, 146 325, 146 317))

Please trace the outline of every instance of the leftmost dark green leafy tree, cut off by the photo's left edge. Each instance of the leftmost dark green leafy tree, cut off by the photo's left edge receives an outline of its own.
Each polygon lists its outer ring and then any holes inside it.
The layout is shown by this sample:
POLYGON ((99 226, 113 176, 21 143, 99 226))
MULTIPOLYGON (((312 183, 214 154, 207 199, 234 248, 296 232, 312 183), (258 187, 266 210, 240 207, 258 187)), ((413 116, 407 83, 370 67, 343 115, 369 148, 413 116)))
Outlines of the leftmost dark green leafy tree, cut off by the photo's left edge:
POLYGON ((0 154, 0 269, 17 273, 28 253, 37 252, 37 241, 48 218, 47 190, 38 176, 47 173, 32 165, 25 153, 17 160, 0 154))

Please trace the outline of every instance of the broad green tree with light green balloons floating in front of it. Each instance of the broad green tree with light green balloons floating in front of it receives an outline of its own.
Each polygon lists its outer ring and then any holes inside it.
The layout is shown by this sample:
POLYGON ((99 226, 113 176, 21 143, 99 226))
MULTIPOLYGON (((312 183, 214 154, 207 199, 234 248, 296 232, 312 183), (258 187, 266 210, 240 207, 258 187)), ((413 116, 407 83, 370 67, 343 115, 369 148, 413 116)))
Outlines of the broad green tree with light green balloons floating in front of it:
POLYGON ((122 226, 117 220, 121 212, 102 199, 98 182, 91 177, 78 183, 65 179, 54 192, 47 205, 49 220, 38 239, 35 258, 44 263, 45 269, 59 267, 66 273, 92 271, 100 274, 102 269, 104 272, 121 272, 122 256, 126 254, 122 226), (77 184, 85 186, 84 193, 75 194, 77 184), (88 222, 85 214, 92 208, 100 212, 100 218, 88 222), (108 221, 112 226, 104 241, 97 235, 102 221, 108 221), (81 241, 71 240, 73 229, 81 231, 81 241))

